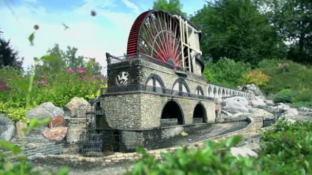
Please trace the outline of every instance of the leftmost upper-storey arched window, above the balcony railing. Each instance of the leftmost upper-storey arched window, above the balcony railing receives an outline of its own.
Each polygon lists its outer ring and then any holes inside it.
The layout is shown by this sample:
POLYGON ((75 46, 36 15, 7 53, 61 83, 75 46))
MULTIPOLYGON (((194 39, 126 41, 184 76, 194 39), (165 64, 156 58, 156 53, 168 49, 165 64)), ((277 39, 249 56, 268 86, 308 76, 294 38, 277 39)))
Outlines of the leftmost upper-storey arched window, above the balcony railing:
POLYGON ((150 74, 145 82, 146 91, 153 91, 158 93, 165 92, 165 83, 162 78, 157 74, 150 74))

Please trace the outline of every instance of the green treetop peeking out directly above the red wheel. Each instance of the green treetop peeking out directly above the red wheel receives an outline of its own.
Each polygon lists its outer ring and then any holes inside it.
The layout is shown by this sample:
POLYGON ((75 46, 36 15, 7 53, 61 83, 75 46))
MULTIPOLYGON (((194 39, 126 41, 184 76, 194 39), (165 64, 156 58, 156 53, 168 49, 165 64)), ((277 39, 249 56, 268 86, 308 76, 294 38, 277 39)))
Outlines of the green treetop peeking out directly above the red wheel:
POLYGON ((155 0, 153 2, 154 9, 163 9, 167 12, 179 12, 181 15, 186 16, 185 12, 182 12, 183 5, 181 4, 180 0, 155 0))

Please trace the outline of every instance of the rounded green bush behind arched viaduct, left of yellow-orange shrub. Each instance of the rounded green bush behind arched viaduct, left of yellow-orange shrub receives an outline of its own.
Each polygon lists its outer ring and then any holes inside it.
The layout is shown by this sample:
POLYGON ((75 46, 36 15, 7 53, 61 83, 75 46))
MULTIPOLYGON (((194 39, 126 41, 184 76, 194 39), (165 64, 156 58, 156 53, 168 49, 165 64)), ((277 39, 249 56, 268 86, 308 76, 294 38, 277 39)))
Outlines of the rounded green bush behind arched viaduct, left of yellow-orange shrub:
POLYGON ((242 76, 250 70, 250 64, 221 58, 218 62, 207 62, 203 76, 208 82, 236 89, 241 85, 242 76))

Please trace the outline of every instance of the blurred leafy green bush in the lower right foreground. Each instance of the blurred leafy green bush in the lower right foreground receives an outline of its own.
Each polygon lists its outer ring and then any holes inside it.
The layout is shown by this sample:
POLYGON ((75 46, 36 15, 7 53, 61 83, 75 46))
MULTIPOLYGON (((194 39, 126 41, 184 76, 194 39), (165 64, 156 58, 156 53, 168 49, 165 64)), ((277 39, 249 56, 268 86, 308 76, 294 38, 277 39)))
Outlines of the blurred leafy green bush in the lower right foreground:
POLYGON ((311 174, 312 123, 295 124, 278 120, 272 130, 261 132, 263 150, 259 156, 244 158, 230 155, 230 147, 242 137, 218 143, 206 141, 204 148, 180 148, 162 153, 160 162, 138 148, 142 160, 127 174, 311 174))

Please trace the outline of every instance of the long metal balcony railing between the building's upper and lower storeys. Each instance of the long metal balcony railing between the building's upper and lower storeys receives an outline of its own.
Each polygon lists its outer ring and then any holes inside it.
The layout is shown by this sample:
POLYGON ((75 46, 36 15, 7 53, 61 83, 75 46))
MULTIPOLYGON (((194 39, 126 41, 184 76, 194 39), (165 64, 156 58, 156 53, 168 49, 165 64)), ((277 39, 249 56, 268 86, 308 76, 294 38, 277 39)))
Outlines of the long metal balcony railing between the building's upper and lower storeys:
POLYGON ((156 86, 150 86, 146 84, 131 84, 131 85, 125 85, 125 86, 113 86, 109 88, 102 88, 101 94, 115 94, 115 93, 121 93, 121 92, 132 92, 132 91, 147 91, 147 92, 154 92, 159 94, 168 94, 168 95, 176 95, 176 96, 182 96, 182 97, 191 97, 191 98, 199 98, 204 100, 213 100, 212 97, 204 96, 204 95, 198 95, 198 94, 192 94, 188 92, 183 91, 176 91, 156 86))

